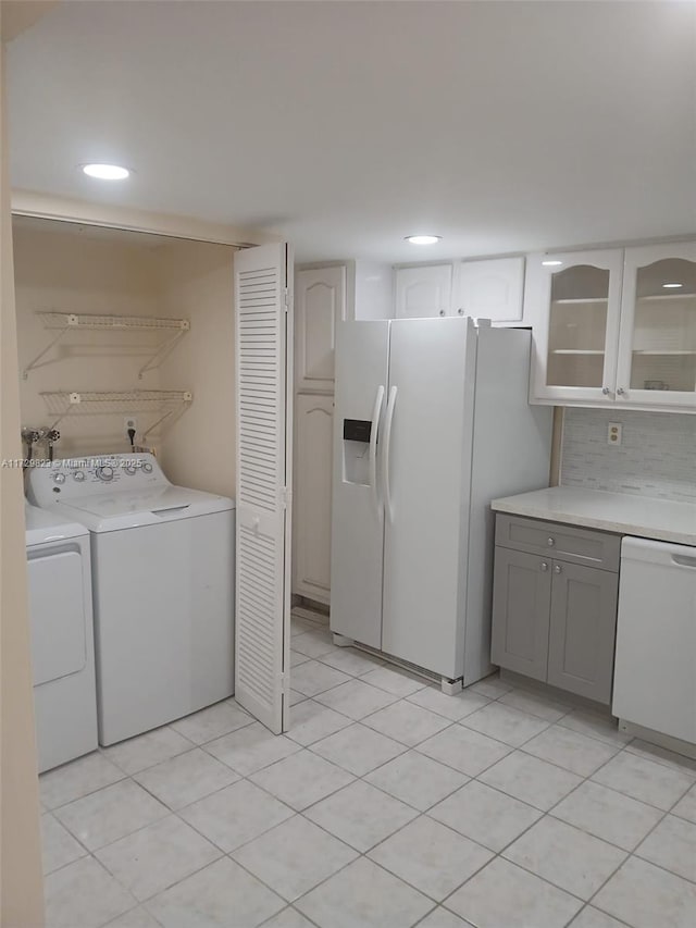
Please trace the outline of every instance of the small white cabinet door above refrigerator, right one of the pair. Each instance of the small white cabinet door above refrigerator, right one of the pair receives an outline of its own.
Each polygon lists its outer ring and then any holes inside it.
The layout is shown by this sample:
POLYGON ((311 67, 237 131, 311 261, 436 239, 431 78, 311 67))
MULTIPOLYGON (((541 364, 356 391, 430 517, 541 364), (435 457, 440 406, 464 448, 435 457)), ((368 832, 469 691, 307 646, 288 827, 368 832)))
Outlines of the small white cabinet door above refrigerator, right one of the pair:
POLYGON ((496 325, 522 322, 524 258, 462 261, 455 310, 460 315, 489 319, 496 325))

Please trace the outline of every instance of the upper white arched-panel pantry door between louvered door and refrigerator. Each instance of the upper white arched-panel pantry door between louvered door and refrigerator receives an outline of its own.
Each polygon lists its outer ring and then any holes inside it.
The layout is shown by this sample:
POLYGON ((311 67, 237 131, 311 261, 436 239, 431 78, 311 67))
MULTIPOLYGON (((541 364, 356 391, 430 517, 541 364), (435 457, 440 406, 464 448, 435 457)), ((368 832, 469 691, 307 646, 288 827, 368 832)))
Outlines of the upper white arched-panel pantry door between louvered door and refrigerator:
POLYGON ((336 325, 346 318, 346 268, 298 271, 295 276, 295 387, 334 392, 336 325))

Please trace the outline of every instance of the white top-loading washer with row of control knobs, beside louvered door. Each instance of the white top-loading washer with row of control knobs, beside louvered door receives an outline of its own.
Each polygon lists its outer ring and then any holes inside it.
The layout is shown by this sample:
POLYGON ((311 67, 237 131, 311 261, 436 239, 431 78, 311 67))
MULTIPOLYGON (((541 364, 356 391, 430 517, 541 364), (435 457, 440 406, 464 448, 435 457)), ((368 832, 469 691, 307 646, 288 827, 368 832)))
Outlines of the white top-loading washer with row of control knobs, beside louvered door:
POLYGON ((234 693, 232 499, 138 454, 36 468, 27 495, 90 532, 101 744, 234 693))

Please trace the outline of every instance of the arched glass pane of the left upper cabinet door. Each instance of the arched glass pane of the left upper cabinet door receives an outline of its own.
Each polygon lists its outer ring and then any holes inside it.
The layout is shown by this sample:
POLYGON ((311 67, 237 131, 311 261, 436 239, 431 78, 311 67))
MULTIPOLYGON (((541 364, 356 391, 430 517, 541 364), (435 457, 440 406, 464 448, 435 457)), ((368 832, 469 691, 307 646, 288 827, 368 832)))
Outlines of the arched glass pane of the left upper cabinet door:
POLYGON ((602 386, 608 299, 609 271, 579 264, 552 275, 549 386, 602 386))

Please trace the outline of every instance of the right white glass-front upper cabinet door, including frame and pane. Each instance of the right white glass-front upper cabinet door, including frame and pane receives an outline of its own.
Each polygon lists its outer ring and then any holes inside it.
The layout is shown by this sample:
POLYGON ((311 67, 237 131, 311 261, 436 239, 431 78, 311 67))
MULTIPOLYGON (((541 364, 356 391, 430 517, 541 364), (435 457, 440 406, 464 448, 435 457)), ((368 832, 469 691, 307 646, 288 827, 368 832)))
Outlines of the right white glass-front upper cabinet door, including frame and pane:
POLYGON ((626 248, 617 393, 696 409, 696 243, 626 248))

